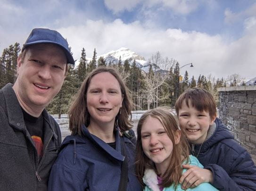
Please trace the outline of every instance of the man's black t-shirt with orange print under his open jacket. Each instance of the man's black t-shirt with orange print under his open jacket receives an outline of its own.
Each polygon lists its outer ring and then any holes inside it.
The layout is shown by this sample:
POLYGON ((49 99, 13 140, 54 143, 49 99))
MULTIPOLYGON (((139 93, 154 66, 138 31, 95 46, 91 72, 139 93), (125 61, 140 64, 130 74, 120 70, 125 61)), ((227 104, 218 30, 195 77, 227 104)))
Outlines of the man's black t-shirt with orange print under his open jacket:
POLYGON ((41 160, 43 154, 43 117, 42 114, 39 117, 33 117, 29 115, 23 108, 23 116, 26 128, 34 142, 37 150, 38 159, 41 160))

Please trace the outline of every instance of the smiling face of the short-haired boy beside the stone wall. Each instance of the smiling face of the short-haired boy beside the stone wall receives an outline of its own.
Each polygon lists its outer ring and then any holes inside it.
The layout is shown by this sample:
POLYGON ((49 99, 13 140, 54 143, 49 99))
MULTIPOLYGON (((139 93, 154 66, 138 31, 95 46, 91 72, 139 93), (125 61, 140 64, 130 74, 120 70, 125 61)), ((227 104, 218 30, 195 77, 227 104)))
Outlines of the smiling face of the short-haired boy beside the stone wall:
POLYGON ((178 117, 181 128, 185 130, 188 141, 192 144, 204 142, 209 126, 215 120, 215 117, 211 119, 209 112, 200 112, 195 107, 192 107, 190 99, 189 107, 186 105, 186 101, 183 100, 178 117))

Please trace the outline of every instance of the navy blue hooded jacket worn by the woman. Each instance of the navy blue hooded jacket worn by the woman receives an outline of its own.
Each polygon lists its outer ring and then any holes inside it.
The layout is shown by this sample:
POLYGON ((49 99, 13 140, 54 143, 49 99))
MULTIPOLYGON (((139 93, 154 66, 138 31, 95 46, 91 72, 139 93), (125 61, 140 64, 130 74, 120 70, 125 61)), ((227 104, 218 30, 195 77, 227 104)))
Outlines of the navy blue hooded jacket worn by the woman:
MULTIPOLYGON (((134 133, 134 132, 133 132, 134 133)), ((140 191, 134 175, 135 145, 116 131, 116 150, 83 126, 83 136, 67 136, 50 173, 48 191, 118 191, 121 175, 120 139, 128 156, 127 191, 140 191)))

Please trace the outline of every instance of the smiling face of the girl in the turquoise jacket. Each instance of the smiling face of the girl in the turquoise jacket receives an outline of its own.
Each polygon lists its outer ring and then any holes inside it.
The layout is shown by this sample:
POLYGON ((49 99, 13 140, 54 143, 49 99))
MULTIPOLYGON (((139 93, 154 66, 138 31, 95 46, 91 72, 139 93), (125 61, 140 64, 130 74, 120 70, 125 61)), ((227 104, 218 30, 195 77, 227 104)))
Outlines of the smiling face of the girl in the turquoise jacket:
MULTIPOLYGON (((181 133, 176 130, 174 135, 176 145, 180 141, 181 133)), ((159 119, 151 116, 146 118, 141 127, 141 143, 143 152, 155 163, 157 170, 167 169, 173 152, 173 142, 159 119)))

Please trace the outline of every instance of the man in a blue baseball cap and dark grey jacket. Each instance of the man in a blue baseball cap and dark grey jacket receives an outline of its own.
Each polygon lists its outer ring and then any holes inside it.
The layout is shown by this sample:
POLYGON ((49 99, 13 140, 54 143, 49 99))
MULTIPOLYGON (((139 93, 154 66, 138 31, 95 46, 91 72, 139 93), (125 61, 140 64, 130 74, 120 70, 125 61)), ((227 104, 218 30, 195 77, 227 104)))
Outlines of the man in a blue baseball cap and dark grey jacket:
POLYGON ((61 144, 45 107, 74 65, 57 31, 33 29, 17 59, 17 80, 0 90, 0 190, 46 191, 61 144))

